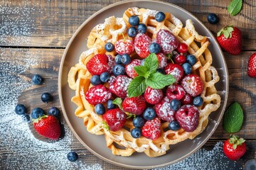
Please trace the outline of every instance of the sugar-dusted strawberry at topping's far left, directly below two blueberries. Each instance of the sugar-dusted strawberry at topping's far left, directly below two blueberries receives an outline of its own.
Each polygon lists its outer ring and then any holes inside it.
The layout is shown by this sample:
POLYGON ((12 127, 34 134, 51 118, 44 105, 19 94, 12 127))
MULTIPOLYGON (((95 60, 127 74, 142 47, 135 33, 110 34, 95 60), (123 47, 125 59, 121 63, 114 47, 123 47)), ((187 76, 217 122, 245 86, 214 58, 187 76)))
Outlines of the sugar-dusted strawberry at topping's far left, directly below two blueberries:
POLYGON ((111 98, 111 92, 102 84, 92 86, 85 93, 85 99, 92 105, 106 102, 111 98))

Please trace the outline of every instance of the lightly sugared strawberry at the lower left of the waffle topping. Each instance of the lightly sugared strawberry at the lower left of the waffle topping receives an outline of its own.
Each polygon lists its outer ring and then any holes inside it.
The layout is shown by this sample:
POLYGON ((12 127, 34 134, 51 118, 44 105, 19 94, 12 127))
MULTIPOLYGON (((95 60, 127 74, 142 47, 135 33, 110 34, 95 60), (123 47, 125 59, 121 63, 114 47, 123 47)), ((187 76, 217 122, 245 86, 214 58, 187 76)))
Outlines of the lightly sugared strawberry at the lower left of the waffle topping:
POLYGON ((124 126, 124 123, 127 120, 127 114, 125 114, 120 108, 114 108, 104 113, 102 118, 105 120, 110 130, 117 131, 121 130, 124 126))

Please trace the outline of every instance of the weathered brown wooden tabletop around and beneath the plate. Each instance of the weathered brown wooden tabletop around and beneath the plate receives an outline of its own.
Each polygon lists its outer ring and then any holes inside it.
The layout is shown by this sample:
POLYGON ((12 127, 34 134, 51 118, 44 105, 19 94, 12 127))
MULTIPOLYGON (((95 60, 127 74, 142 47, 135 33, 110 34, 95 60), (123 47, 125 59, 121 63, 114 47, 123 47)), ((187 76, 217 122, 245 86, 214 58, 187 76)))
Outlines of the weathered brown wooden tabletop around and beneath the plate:
MULTIPOLYGON (((17 67, 18 64, 26 62, 29 57, 30 60, 37 60, 37 64, 31 65, 20 74, 16 72, 12 74, 28 82, 31 81, 33 74, 41 74, 46 79, 43 86, 31 86, 24 90, 18 96, 18 102, 25 103, 29 111, 33 106, 41 106, 46 109, 51 106, 60 107, 57 86, 58 69, 68 41, 80 24, 92 13, 115 2, 117 0, 87 0, 84 2, 12 0, 0 2, 0 64, 17 67), (40 96, 45 91, 50 91, 53 94, 53 103, 46 105, 35 97, 40 96)), ((245 114, 242 129, 236 133, 247 140, 247 153, 241 159, 241 164, 244 164, 248 159, 256 157, 256 78, 247 76, 247 61, 250 55, 256 51, 256 1, 243 1, 242 11, 238 16, 228 14, 227 6, 230 2, 228 0, 169 0, 168 2, 193 13, 214 35, 220 28, 230 24, 242 30, 243 42, 240 55, 233 56, 226 52, 224 55, 230 77, 228 105, 233 101, 238 101, 245 114), (208 13, 217 13, 220 22, 215 25, 208 23, 208 13)), ((4 79, 4 74, 1 74, 0 78, 4 79)), ((17 84, 18 82, 16 82, 17 84)), ((224 141, 228 136, 229 134, 223 130, 223 125, 220 123, 204 148, 211 149, 217 141, 224 141)), ((97 162, 104 169, 122 169, 98 159, 82 147, 74 137, 72 141, 71 149, 87 154, 86 157, 80 157, 84 164, 97 162)), ((5 147, 0 147, 0 159, 4 159, 4 155, 8 152, 10 151, 5 147)), ((50 150, 44 152, 50 152, 50 150)), ((12 157, 15 160, 16 155, 14 154, 12 157)), ((42 162, 43 164, 45 163, 42 162)), ((14 167, 18 168, 18 166, 25 165, 16 162, 14 167)))

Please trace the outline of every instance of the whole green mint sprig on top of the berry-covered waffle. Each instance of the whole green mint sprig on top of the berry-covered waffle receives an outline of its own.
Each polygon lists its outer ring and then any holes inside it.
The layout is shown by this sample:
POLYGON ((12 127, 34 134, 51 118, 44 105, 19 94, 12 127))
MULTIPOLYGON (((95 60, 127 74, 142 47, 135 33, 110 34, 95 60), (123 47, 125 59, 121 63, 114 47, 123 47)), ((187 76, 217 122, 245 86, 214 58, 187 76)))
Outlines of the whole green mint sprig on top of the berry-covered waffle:
POLYGON ((158 67, 156 54, 151 53, 146 57, 144 66, 134 67, 135 72, 139 74, 128 86, 128 97, 140 96, 144 93, 147 86, 152 89, 163 89, 165 86, 174 84, 176 81, 171 74, 161 74, 156 72, 158 67))

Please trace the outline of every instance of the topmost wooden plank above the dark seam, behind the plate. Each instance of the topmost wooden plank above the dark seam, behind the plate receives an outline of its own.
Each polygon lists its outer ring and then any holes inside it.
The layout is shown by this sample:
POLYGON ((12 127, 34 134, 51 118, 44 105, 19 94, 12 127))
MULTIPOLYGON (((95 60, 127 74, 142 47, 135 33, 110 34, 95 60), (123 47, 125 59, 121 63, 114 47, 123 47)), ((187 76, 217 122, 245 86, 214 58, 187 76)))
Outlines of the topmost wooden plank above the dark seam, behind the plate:
MULTIPOLYGON (((233 24, 242 30, 243 50, 256 50, 256 1, 243 1, 238 16, 230 16, 222 0, 165 0, 185 8, 214 34, 233 24), (208 13, 218 13, 220 23, 210 24, 208 13)), ((75 30, 92 13, 113 4, 110 1, 1 1, 0 46, 65 47, 75 30)))

